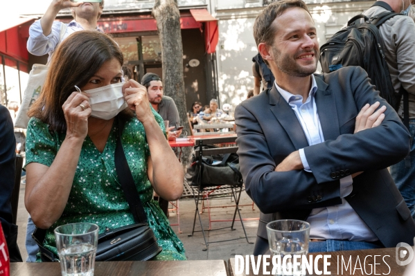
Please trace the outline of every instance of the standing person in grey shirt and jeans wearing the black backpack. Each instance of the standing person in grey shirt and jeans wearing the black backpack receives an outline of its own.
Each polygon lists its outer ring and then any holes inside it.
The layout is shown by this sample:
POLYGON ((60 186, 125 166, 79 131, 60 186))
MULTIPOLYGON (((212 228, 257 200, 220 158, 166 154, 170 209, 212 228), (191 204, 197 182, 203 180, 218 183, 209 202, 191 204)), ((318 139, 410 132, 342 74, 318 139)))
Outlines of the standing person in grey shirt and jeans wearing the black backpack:
MULTIPOLYGON (((376 1, 371 8, 363 12, 367 17, 379 17, 384 12, 396 12, 379 28, 385 44, 384 53, 391 82, 396 93, 400 89, 407 91, 408 114, 404 116, 404 100, 400 101, 398 115, 400 118, 409 116, 409 133, 412 136, 411 151, 407 158, 396 165, 391 165, 390 172, 405 199, 412 217, 415 219, 415 24, 407 16, 411 10, 411 0, 376 1)), ((405 93, 405 92, 404 92, 405 93)))

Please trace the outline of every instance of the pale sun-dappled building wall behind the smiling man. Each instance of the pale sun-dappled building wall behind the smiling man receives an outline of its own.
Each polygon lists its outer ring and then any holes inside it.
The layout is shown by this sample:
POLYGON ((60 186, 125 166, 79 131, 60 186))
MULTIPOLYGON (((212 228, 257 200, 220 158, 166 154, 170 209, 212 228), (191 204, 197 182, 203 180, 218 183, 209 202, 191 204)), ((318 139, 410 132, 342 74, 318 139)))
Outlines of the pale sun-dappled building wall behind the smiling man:
MULTIPOLYGON (((270 1, 215 0, 212 14, 218 19, 219 42, 218 89, 221 104, 236 107, 254 88, 252 57, 258 53, 253 26, 256 16, 270 1)), ((374 1, 310 1, 308 9, 317 26, 319 45, 347 24, 347 21, 367 10, 374 1)), ((320 71, 320 66, 317 71, 320 71)))

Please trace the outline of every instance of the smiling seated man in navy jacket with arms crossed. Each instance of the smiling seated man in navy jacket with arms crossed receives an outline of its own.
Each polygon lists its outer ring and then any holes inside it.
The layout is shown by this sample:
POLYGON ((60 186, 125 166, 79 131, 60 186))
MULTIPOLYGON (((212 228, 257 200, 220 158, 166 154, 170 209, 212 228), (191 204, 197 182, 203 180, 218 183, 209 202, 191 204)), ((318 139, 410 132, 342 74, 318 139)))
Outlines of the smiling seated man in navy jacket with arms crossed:
POLYGON ((360 67, 313 74, 316 28, 301 0, 271 3, 256 18, 258 51, 272 89, 235 112, 240 170, 265 225, 310 223, 310 252, 413 244, 415 222, 387 167, 409 151, 409 133, 360 67))

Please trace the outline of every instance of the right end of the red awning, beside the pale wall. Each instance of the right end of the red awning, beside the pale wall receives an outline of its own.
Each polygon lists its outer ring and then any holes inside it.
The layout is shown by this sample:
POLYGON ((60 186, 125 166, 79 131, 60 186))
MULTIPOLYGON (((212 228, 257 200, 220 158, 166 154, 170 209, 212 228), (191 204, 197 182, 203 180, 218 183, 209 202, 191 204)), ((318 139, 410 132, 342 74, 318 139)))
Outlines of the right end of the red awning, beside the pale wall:
POLYGON ((219 41, 218 19, 215 19, 205 8, 190 10, 197 22, 206 22, 204 28, 204 41, 206 53, 215 53, 219 41))

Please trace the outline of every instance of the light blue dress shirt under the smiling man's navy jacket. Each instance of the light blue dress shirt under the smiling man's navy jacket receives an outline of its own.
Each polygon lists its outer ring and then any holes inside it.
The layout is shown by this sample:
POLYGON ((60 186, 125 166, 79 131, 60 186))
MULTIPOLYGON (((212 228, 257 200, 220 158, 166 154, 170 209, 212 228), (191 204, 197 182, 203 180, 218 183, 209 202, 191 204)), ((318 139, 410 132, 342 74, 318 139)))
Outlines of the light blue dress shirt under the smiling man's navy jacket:
MULTIPOLYGON (((306 135, 308 145, 316 145, 324 142, 324 135, 321 129, 319 114, 315 104, 315 93, 317 84, 314 75, 311 75, 312 85, 306 102, 303 103, 301 95, 281 89, 275 82, 276 89, 284 98, 295 116, 299 120, 306 135)), ((311 172, 304 149, 299 149, 301 162, 304 170, 311 172)), ((340 196, 342 204, 326 208, 315 208, 308 216, 310 223, 310 239, 342 239, 349 241, 376 241, 378 237, 370 230, 359 215, 353 210, 350 204, 344 199, 353 190, 353 178, 349 175, 340 179, 340 196)))

